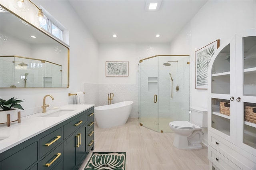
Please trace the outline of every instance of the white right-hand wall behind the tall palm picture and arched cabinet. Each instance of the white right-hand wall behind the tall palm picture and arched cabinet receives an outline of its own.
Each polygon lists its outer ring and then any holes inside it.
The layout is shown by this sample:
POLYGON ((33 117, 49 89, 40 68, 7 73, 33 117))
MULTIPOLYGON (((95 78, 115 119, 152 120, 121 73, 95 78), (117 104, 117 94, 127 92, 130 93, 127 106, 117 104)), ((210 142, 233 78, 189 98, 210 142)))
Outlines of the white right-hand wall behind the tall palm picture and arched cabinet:
POLYGON ((256 1, 210 0, 172 41, 171 53, 190 53, 190 106, 208 107, 207 89, 195 89, 195 51, 218 39, 221 45, 250 28, 256 28, 256 1))

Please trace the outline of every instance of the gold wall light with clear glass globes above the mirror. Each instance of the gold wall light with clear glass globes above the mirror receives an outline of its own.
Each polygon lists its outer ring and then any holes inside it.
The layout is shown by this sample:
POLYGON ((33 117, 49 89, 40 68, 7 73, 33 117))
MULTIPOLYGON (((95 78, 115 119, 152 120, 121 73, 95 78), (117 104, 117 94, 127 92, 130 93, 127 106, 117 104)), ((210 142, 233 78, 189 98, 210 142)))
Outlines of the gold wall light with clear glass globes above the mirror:
MULTIPOLYGON (((31 0, 14 0, 13 6, 14 6, 14 8, 16 8, 22 12, 26 12, 29 9, 28 2, 31 2, 31 4, 33 4, 36 8, 38 8, 38 6, 36 6, 36 4, 34 4, 31 0)), ((36 22, 38 24, 40 24, 41 27, 47 25, 47 23, 48 23, 47 17, 44 15, 42 9, 40 9, 40 8, 38 8, 36 22)))

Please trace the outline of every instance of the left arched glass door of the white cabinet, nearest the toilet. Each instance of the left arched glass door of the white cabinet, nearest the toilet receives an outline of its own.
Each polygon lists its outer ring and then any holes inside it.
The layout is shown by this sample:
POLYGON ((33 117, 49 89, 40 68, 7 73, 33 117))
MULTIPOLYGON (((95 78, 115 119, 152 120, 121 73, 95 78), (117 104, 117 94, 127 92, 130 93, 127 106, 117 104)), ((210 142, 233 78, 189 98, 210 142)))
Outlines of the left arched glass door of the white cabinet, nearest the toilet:
POLYGON ((230 142, 236 142, 235 39, 217 50, 211 73, 211 125, 212 132, 230 142))

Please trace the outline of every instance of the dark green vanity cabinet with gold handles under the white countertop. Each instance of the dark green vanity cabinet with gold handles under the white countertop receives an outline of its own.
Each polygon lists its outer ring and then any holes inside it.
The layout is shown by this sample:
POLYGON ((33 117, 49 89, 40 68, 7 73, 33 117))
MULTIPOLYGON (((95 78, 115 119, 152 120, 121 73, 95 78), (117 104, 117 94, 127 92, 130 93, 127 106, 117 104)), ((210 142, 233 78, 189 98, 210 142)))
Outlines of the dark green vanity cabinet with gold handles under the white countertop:
POLYGON ((0 169, 78 169, 90 149, 94 149, 94 132, 91 134, 94 131, 92 113, 94 107, 2 152, 0 169))

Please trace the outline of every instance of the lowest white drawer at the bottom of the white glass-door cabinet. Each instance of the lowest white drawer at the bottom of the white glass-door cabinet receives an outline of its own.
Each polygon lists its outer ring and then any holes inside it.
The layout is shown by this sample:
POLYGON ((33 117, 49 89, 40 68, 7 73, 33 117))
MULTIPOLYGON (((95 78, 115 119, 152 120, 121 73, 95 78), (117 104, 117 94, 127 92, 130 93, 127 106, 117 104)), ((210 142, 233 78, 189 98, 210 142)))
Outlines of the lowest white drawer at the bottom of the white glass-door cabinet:
POLYGON ((211 146, 208 146, 208 159, 221 170, 240 170, 238 166, 211 146))

